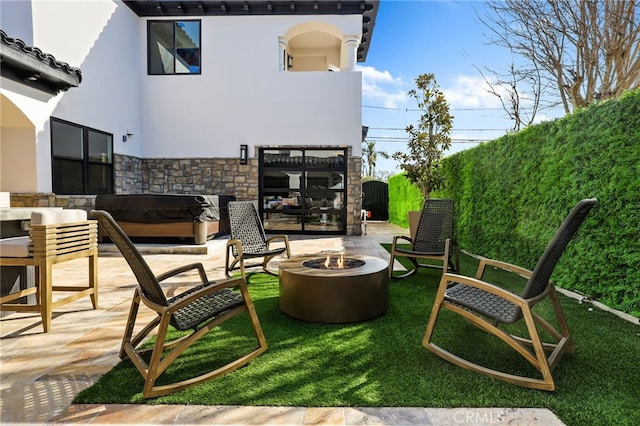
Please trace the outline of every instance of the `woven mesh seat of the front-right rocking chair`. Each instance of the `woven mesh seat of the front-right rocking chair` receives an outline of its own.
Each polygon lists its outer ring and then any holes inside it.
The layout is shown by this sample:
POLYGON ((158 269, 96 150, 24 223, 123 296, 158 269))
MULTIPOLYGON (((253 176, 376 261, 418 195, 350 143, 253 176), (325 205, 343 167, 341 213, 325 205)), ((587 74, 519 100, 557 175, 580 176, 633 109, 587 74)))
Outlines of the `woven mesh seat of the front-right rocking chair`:
POLYGON ((520 309, 508 300, 464 284, 449 287, 444 298, 505 324, 515 322, 521 316, 520 309))

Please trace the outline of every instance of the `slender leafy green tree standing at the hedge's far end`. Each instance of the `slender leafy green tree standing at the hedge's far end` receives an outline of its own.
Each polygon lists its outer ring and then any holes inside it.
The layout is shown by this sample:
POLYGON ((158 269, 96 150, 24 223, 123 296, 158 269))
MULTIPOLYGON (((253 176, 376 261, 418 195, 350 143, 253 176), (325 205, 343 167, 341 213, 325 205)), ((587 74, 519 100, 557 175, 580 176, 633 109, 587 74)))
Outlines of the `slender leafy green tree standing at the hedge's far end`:
POLYGON ((392 158, 400 163, 409 181, 426 200, 444 182, 440 164, 444 151, 451 146, 453 116, 434 74, 421 74, 415 83, 416 89, 408 94, 416 100, 422 114, 415 127, 410 124, 405 128, 409 134, 408 151, 395 152, 392 158))

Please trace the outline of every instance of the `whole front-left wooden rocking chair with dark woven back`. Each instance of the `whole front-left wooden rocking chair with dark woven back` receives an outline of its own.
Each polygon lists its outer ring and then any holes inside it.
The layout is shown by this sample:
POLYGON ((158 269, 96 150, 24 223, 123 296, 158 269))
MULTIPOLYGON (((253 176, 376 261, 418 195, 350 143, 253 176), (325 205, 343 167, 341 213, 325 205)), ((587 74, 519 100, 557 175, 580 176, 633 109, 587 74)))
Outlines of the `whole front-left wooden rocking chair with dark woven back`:
MULTIPOLYGON (((243 277, 219 282, 209 281, 202 263, 184 265, 156 276, 129 237, 108 212, 93 210, 91 214, 98 220, 103 231, 118 247, 139 284, 134 292, 129 310, 129 318, 120 348, 120 358, 128 357, 144 378, 142 394, 145 398, 168 395, 234 371, 245 366, 267 350, 267 342, 262 333, 260 321, 243 277), (184 273, 193 274, 194 272, 198 273, 200 284, 194 285, 176 296, 167 298, 160 285, 162 281, 184 273), (138 317, 140 302, 155 311, 157 316, 134 335, 133 330, 138 317), (257 340, 257 347, 228 362, 226 365, 197 377, 166 385, 158 385, 156 383, 161 374, 185 350, 218 325, 243 312, 247 312, 249 316, 253 333, 257 340), (179 331, 192 331, 181 338, 167 341, 167 332, 170 325, 179 331), (153 347, 148 349, 139 348, 142 341, 156 328, 158 331, 153 347), (146 354, 150 354, 148 363, 143 358, 146 354)), ((188 280, 190 281, 192 278, 189 277, 188 280)))

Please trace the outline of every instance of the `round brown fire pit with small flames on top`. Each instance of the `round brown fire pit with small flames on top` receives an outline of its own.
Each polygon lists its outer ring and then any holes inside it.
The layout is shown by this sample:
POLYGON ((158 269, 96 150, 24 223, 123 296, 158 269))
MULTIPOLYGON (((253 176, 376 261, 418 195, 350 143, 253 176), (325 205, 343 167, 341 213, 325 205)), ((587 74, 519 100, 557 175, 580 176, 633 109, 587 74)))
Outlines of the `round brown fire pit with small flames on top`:
POLYGON ((298 256, 280 263, 280 309, 310 322, 348 323, 384 314, 389 307, 388 264, 365 255, 298 256), (305 266, 307 265, 307 266, 305 266))

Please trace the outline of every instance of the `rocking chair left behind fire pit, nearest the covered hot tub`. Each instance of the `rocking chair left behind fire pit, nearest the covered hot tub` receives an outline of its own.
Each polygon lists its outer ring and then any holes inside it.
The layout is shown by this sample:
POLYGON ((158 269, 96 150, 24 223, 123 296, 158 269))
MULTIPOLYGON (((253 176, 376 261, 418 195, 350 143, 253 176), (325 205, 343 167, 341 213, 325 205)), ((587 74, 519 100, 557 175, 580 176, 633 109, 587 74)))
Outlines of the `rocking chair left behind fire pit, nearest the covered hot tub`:
POLYGON ((225 256, 225 275, 231 277, 231 272, 240 269, 240 275, 244 278, 245 267, 258 266, 245 265, 245 260, 262 258, 262 269, 271 275, 277 275, 267 268, 267 264, 274 257, 286 253, 291 257, 289 238, 286 235, 273 235, 269 238, 265 235, 262 221, 255 205, 251 201, 230 201, 229 220, 231 222, 231 239, 227 242, 225 256), (284 243, 281 247, 272 247, 276 241, 284 243))

